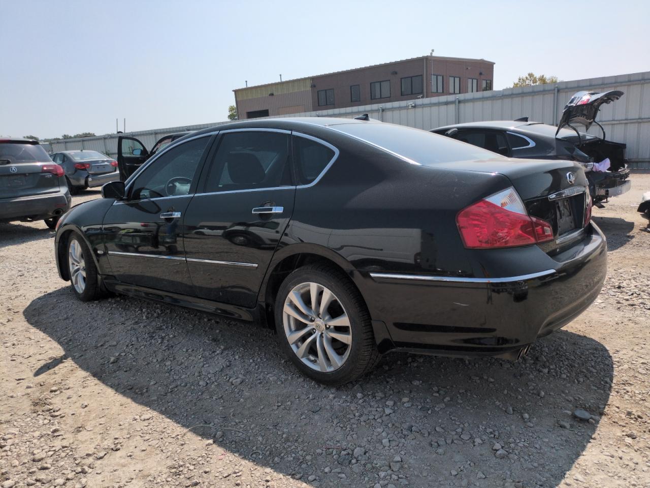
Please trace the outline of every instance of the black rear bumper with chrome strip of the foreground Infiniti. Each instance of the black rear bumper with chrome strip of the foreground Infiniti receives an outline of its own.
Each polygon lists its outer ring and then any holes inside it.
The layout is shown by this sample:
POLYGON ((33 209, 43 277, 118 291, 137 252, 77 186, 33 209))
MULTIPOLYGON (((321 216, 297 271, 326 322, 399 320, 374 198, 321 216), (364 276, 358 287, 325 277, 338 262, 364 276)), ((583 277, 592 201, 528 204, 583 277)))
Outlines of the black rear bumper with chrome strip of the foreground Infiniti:
MULTIPOLYGON (((517 250, 511 251, 517 260, 517 250)), ((547 258, 538 263, 547 269, 505 278, 369 273, 372 283, 363 295, 371 293, 370 315, 387 332, 380 349, 516 359, 536 338, 582 313, 606 274, 606 241, 595 225, 554 258, 538 251, 547 258)))

